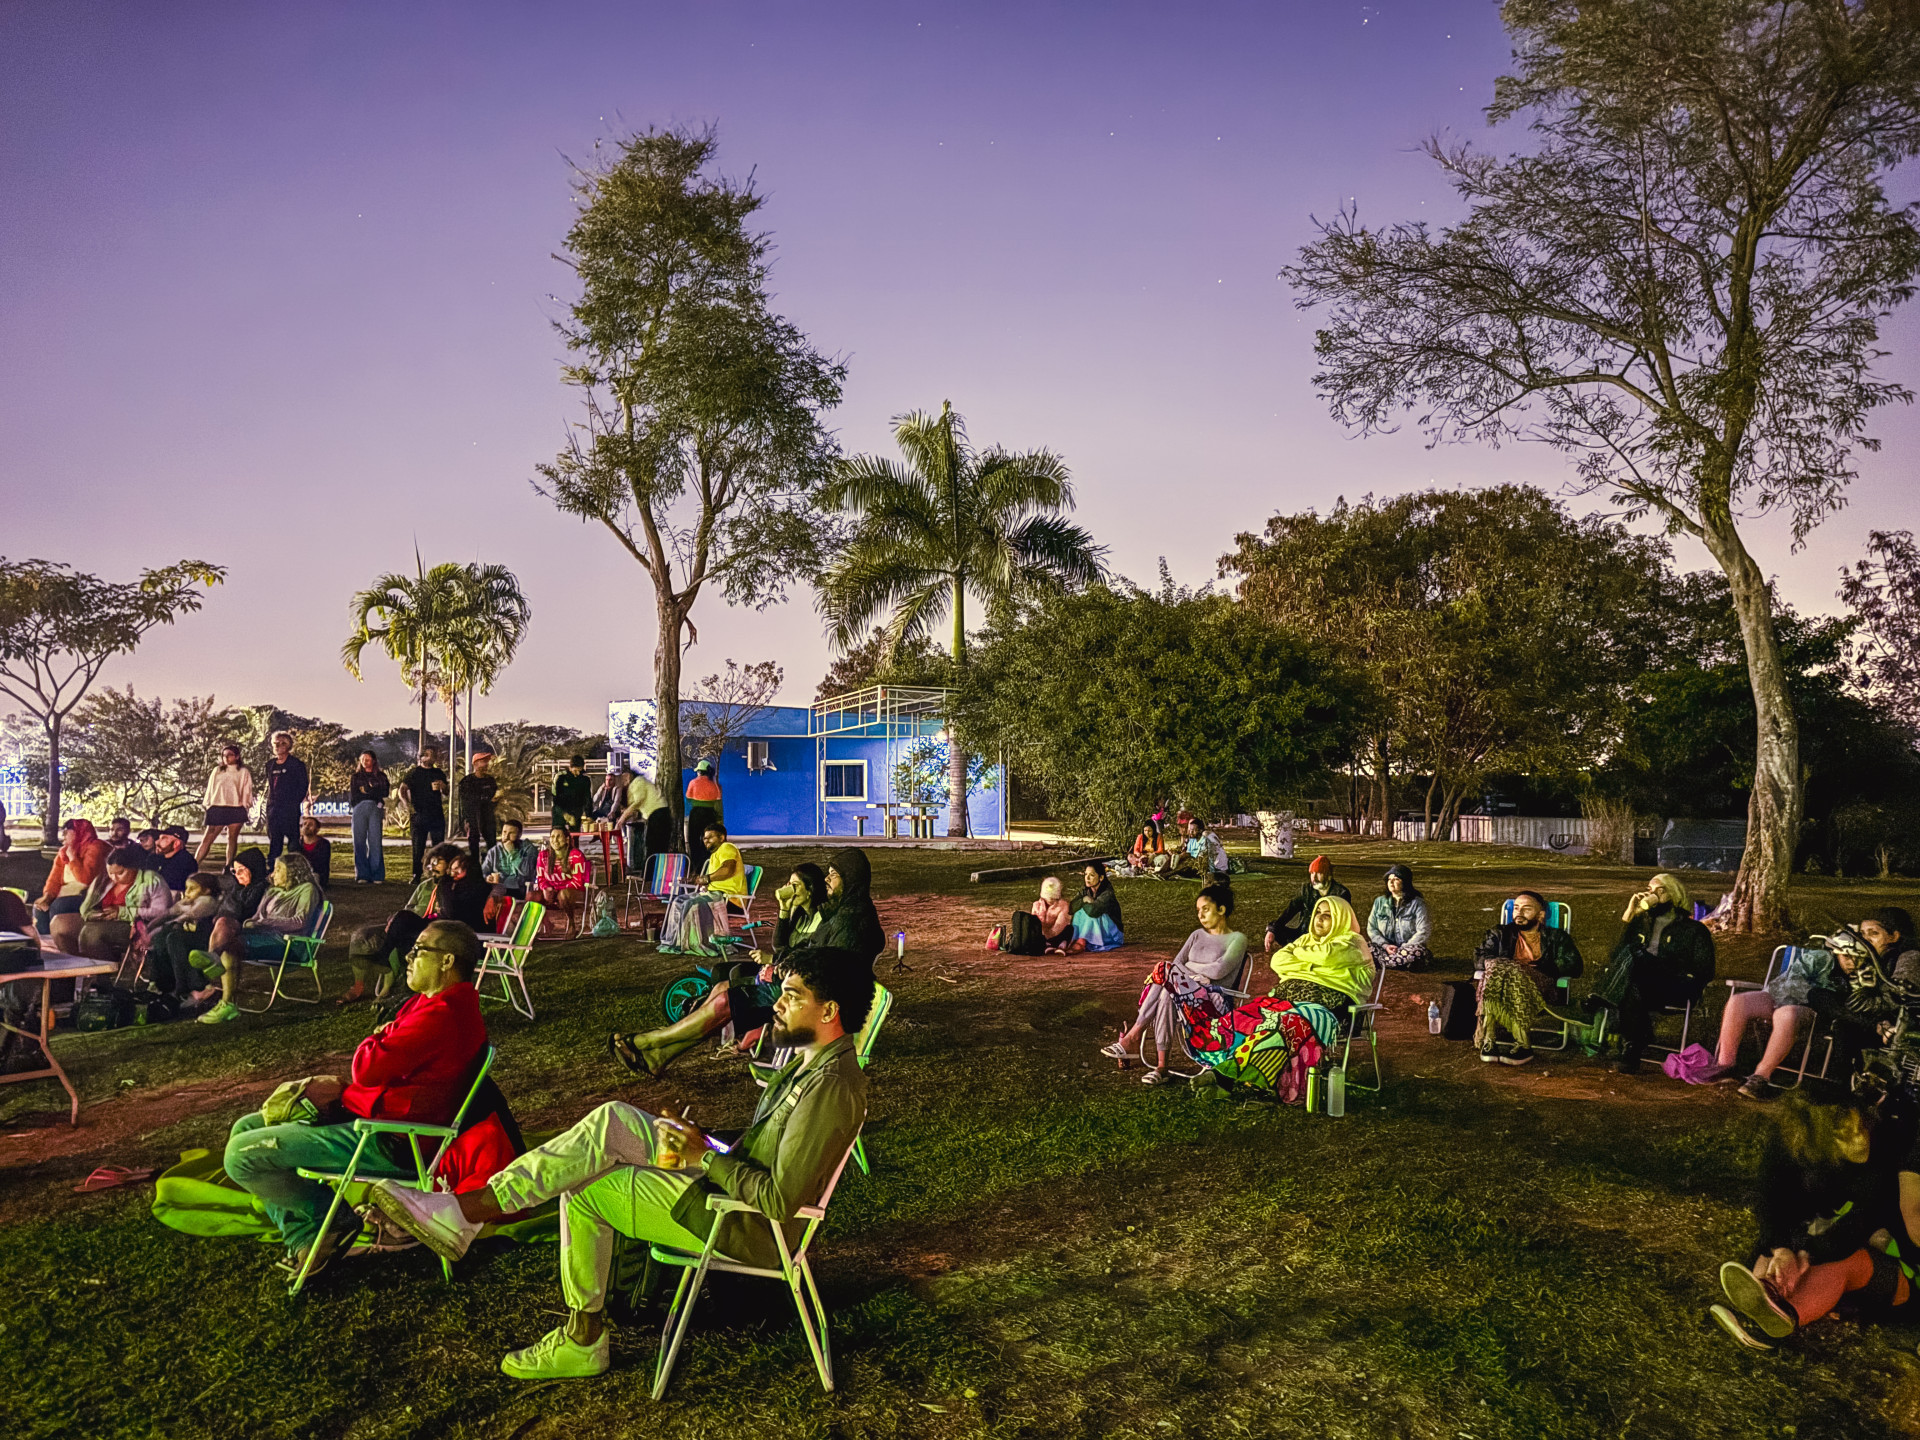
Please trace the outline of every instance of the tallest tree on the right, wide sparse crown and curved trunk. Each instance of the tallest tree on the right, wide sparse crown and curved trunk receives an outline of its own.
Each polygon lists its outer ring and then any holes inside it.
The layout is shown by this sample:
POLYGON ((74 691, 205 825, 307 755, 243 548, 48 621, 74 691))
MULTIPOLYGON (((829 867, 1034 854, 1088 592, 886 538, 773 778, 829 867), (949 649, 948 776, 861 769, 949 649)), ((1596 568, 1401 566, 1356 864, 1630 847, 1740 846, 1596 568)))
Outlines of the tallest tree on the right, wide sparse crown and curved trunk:
POLYGON ((1734 929, 1786 924, 1799 726, 1772 593, 1740 532, 1797 538, 1841 503, 1870 413, 1878 321, 1912 294, 1920 230, 1882 177, 1920 152, 1912 0, 1507 0, 1528 115, 1505 159, 1428 154, 1469 215, 1323 227, 1283 271, 1327 305, 1336 419, 1432 440, 1542 440, 1580 484, 1699 540, 1732 588, 1759 712, 1734 929))

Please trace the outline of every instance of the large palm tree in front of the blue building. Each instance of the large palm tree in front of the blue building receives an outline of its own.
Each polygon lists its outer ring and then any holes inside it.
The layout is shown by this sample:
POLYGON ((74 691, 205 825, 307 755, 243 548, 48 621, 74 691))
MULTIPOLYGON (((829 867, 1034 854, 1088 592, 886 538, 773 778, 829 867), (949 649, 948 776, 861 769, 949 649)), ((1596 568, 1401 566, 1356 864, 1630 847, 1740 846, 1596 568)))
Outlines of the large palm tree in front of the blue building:
MULTIPOLYGON (((952 620, 950 653, 966 666, 966 597, 1016 601, 1106 574, 1106 549, 1064 518, 1073 509, 1066 463, 1044 449, 975 451, 952 401, 939 415, 897 415, 904 463, 843 461, 826 503, 854 516, 847 551, 820 584, 839 653, 885 616, 889 651, 952 620)), ((966 835, 968 756, 948 745, 947 833, 966 835)))

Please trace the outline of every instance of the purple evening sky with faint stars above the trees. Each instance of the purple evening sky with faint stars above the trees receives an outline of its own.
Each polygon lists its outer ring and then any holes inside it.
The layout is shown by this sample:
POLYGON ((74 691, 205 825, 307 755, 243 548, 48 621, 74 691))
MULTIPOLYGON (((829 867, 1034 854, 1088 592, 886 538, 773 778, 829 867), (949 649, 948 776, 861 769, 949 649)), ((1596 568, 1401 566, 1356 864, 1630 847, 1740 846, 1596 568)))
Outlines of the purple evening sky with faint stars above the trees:
MULTIPOLYGON (((1311 213, 1448 217, 1415 142, 1484 138, 1488 0, 1265 4, 86 4, 0 10, 0 553, 108 576, 230 566, 108 670, 355 726, 405 724, 392 666, 336 659, 382 570, 484 559, 534 628, 482 722, 599 728, 651 691, 645 578, 530 488, 576 417, 549 321, 564 156, 716 121, 770 196, 780 305, 851 365, 833 424, 952 399, 977 442, 1048 445, 1117 568, 1213 574, 1236 530, 1334 495, 1563 482, 1549 451, 1348 438, 1275 271, 1311 213)), ((1498 134, 1498 132, 1496 132, 1498 134)), ((1500 144, 1517 144, 1500 136, 1500 144)), ((1920 388, 1920 319, 1884 374, 1920 388)), ((1868 528, 1920 524, 1887 413, 1851 509, 1799 555, 1832 609, 1868 528)), ((1584 503, 1580 503, 1584 507, 1584 503)), ((1680 547, 1682 563, 1707 564, 1680 547)), ((689 674, 826 664, 808 591, 714 595, 689 674)))

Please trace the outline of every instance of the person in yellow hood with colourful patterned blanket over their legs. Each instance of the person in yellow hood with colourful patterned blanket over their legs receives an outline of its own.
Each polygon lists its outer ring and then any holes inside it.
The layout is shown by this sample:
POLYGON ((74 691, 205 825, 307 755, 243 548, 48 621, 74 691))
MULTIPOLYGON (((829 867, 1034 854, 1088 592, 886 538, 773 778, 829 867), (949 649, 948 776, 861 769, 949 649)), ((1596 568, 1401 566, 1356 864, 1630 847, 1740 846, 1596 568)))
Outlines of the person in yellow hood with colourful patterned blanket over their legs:
POLYGON ((1275 950, 1271 964, 1273 991, 1196 1025, 1188 1048, 1215 1079, 1294 1104, 1340 1016, 1371 995, 1373 956, 1354 906, 1329 895, 1313 906, 1308 933, 1275 950))

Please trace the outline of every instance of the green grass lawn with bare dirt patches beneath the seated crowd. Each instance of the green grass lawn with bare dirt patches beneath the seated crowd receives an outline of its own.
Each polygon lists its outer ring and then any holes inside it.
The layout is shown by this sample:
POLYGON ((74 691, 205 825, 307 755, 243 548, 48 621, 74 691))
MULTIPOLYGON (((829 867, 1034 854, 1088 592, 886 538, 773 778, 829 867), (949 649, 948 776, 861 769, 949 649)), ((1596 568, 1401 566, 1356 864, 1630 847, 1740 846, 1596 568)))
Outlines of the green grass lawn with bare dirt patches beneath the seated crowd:
MULTIPOLYGON (((1594 966, 1645 874, 1329 847, 1359 897, 1388 860, 1413 864, 1442 979, 1467 977, 1521 885, 1574 906, 1594 966)), ((340 1261, 290 1300, 276 1248, 177 1235, 148 1213, 150 1187, 71 1194, 98 1164, 219 1146, 276 1081, 338 1069, 367 1025, 365 1008, 276 1006, 60 1037, 79 1131, 58 1087, 0 1091, 6 1436, 1920 1434, 1920 1334, 1824 1323, 1749 1356, 1705 1319, 1715 1265, 1745 1254, 1759 1106, 1582 1060, 1480 1066, 1427 1035, 1434 975, 1388 977, 1386 1091, 1344 1119, 1200 1104, 1094 1052, 1192 927, 1192 883, 1123 881, 1125 950, 1037 962, 979 950, 1035 891, 966 881, 1006 856, 872 854, 912 970, 881 960, 899 1002, 872 1071, 874 1173, 849 1173, 816 1246, 837 1394, 820 1392, 778 1286, 716 1283, 655 1405, 651 1321, 614 1331, 601 1380, 499 1373, 561 1313, 551 1244, 482 1246, 451 1286, 419 1250, 340 1261)), ((1238 885, 1248 933, 1302 876, 1271 870, 1238 885)), ((0 866, 4 883, 38 874, 0 866)), ((1697 893, 1720 887, 1699 877, 1697 893)), ((330 993, 348 931, 401 899, 336 881, 330 993)), ((1920 908, 1920 885, 1807 879, 1793 902, 1818 929, 1920 908)), ((1753 943, 1720 956, 1722 975, 1763 966, 1753 943)), ((607 1031, 651 1023, 680 970, 632 939, 536 952, 538 1021, 490 1010, 495 1077, 528 1129, 607 1098, 747 1119, 751 1081, 708 1050, 659 1081, 605 1058, 607 1031)))

